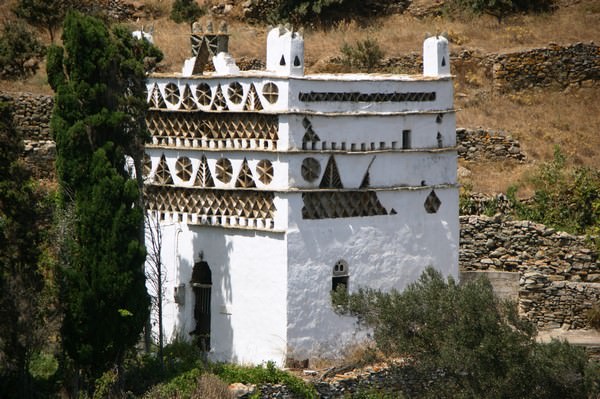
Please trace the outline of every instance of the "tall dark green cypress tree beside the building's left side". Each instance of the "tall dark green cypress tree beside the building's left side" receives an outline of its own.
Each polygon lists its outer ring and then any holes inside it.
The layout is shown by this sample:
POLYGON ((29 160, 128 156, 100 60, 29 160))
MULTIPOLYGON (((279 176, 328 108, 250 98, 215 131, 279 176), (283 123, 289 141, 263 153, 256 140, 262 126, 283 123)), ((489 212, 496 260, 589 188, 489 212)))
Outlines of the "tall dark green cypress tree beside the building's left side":
POLYGON ((121 364, 148 318, 141 180, 129 175, 125 157, 141 170, 144 58, 162 55, 127 29, 76 12, 65 19, 63 43, 48 54, 65 215, 61 335, 78 375, 96 377, 121 364))

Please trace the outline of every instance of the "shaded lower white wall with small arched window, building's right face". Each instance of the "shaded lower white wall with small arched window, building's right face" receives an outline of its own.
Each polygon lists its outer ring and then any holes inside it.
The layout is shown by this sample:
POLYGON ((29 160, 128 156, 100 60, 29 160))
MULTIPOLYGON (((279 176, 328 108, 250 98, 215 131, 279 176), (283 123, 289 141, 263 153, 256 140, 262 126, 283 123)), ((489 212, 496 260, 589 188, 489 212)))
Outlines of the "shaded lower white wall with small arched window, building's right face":
POLYGON ((436 190, 442 205, 429 214, 430 189, 378 193, 397 215, 304 220, 300 195, 290 195, 288 239, 288 347, 296 359, 343 356, 363 339, 355 320, 334 314, 331 277, 335 262, 348 262, 349 288, 402 289, 427 266, 457 278, 458 191, 436 190))

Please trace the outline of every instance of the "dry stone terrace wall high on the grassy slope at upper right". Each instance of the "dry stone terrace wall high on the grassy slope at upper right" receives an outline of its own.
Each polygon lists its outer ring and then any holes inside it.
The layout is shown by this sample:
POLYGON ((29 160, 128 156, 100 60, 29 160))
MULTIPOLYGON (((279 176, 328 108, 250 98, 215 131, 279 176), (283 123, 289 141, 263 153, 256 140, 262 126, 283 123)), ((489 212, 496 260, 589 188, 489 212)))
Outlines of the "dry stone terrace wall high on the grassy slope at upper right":
MULTIPOLYGON (((566 88, 600 80, 600 47, 594 43, 492 55, 494 86, 500 91, 566 88)), ((486 61, 489 62, 489 61, 486 61)))

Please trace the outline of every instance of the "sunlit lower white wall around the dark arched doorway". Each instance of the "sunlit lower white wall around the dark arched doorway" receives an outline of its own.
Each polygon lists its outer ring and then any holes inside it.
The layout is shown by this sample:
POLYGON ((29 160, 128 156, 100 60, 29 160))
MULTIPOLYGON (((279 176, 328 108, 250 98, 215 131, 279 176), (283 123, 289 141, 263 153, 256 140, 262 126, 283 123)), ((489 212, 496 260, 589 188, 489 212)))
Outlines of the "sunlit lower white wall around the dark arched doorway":
POLYGON ((214 360, 283 365, 286 353, 287 253, 281 233, 164 225, 167 342, 195 328, 192 269, 200 251, 212 271, 211 351, 214 360), (185 286, 185 303, 174 288, 185 286))

